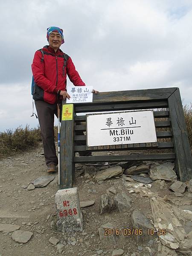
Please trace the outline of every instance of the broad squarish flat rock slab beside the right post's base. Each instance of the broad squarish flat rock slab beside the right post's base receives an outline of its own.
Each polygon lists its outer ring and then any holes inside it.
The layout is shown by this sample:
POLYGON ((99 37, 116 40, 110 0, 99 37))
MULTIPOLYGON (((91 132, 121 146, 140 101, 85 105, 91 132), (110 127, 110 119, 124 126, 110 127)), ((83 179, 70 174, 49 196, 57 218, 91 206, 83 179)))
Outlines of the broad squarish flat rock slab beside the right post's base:
POLYGON ((176 180, 177 175, 173 170, 174 163, 167 162, 160 165, 154 164, 150 168, 150 178, 152 180, 176 180))

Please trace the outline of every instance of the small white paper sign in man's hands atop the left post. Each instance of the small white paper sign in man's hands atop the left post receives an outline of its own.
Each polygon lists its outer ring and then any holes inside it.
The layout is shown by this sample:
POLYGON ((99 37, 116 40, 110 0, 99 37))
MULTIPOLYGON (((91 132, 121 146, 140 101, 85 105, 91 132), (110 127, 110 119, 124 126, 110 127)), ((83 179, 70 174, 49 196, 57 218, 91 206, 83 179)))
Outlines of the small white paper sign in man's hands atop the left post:
POLYGON ((93 86, 67 86, 67 93, 71 96, 66 103, 93 102, 93 86))

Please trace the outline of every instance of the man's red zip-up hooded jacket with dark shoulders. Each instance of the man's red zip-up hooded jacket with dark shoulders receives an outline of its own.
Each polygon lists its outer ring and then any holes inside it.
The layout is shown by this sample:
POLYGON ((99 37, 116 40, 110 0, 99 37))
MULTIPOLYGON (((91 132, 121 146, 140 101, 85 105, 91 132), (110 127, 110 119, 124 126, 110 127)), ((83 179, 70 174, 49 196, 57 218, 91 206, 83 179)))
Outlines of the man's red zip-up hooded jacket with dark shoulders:
POLYGON ((44 55, 41 50, 35 52, 32 73, 35 80, 33 99, 44 100, 54 104, 57 100, 58 90, 66 90, 67 76, 75 86, 84 86, 79 73, 70 56, 58 49, 44 46, 44 55))

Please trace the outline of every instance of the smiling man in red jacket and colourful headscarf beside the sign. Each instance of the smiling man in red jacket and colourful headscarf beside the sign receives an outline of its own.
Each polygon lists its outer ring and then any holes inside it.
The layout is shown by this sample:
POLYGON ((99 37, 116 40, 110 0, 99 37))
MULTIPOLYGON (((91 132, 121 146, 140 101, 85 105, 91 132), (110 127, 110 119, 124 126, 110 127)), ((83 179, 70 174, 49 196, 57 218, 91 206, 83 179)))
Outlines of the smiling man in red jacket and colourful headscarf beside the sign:
MULTIPOLYGON (((67 76, 75 86, 85 86, 70 56, 59 49, 64 43, 63 30, 58 27, 47 29, 49 46, 37 50, 32 63, 35 80, 33 99, 38 113, 44 146, 45 162, 49 173, 56 171, 58 158, 54 140, 54 114, 57 116, 57 103, 70 99, 66 91, 67 76)), ((93 93, 97 93, 93 90, 93 93)))

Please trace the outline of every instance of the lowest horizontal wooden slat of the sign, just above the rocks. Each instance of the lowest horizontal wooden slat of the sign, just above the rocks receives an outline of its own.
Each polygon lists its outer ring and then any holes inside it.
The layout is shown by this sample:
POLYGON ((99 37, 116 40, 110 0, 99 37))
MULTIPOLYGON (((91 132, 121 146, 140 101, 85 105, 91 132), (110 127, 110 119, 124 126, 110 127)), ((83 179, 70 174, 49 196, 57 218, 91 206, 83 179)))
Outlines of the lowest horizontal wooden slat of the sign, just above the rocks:
POLYGON ((74 157, 75 163, 96 163, 96 162, 122 162, 122 161, 147 161, 147 160, 174 160, 174 153, 165 154, 133 154, 120 156, 95 156, 95 157, 74 157))

